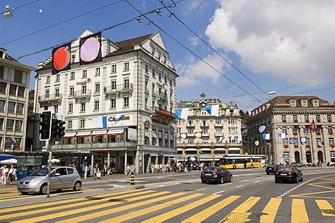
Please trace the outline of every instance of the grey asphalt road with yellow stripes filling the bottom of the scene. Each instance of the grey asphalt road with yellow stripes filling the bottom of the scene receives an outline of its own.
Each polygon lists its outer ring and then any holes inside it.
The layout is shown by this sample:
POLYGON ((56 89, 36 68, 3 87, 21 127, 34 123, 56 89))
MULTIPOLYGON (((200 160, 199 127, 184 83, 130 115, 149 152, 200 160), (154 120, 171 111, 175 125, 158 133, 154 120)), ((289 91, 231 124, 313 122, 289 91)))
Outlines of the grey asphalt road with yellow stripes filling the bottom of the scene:
POLYGON ((232 170, 204 184, 200 171, 83 182, 80 192, 0 192, 0 222, 335 222, 334 167, 301 168, 304 181, 274 183, 264 169, 232 170))

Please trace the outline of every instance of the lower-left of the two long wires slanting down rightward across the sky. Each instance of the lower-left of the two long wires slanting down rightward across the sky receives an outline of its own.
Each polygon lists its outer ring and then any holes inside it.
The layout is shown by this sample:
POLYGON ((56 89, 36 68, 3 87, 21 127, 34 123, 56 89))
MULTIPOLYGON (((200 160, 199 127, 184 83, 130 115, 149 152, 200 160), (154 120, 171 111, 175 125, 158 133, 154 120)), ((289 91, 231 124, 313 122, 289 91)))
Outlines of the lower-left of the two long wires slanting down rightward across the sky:
MULTIPOLYGON (((131 3, 129 3, 128 0, 124 0, 126 1, 131 7, 133 7, 135 10, 137 10, 137 8, 135 8, 135 6, 133 6, 131 3)), ((204 61, 200 56, 198 56, 197 54, 195 54, 193 51, 191 51, 191 49, 188 49, 185 45, 183 45, 182 43, 180 43, 177 39, 175 39, 174 37, 172 37, 169 33, 165 32, 160 26, 158 26, 157 24, 154 23, 154 21, 149 20, 149 18, 144 15, 143 13, 140 12, 140 10, 137 10, 138 13, 140 13, 141 16, 143 16, 145 19, 147 19, 149 21, 149 24, 153 24, 154 26, 157 27, 157 29, 161 30, 163 33, 165 33, 167 36, 169 36, 170 38, 172 38, 172 40, 174 40, 176 43, 178 43, 179 45, 181 45, 181 47, 184 47, 184 49, 186 49, 188 52, 190 52, 191 54, 193 54, 195 57, 197 57, 198 59, 200 59, 200 61, 204 62, 207 64, 207 66, 209 66, 210 68, 212 68, 213 70, 215 70, 216 72, 218 72, 220 75, 222 75, 223 77, 225 77, 226 79, 228 79, 230 82, 232 82, 232 84, 236 85, 239 87, 239 89, 241 89, 242 91, 248 93, 248 95, 251 95, 252 98, 255 98, 256 101, 262 103, 261 100, 259 100, 258 98, 256 98, 254 95, 252 95, 251 93, 249 93, 248 91, 246 91, 244 88, 242 88, 241 86, 239 86, 239 84, 235 83, 234 81, 232 81, 232 79, 230 79, 229 77, 223 75, 222 72, 220 72, 219 70, 217 70, 216 68, 214 68, 213 66, 211 66, 209 63, 207 63, 206 61, 204 61)), ((149 25, 148 24, 148 25, 149 25)))

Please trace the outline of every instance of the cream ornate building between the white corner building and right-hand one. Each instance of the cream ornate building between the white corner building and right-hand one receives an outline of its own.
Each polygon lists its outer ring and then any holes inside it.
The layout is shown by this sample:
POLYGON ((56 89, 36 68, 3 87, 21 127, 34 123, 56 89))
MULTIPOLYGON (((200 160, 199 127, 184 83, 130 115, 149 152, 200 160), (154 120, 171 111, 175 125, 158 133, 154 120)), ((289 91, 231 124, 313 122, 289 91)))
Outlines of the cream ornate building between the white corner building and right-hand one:
POLYGON ((178 108, 188 108, 188 119, 177 120, 178 159, 198 156, 200 162, 214 162, 225 154, 241 154, 241 116, 238 107, 221 100, 205 98, 179 102, 178 108), (211 116, 205 109, 219 105, 218 117, 211 116))

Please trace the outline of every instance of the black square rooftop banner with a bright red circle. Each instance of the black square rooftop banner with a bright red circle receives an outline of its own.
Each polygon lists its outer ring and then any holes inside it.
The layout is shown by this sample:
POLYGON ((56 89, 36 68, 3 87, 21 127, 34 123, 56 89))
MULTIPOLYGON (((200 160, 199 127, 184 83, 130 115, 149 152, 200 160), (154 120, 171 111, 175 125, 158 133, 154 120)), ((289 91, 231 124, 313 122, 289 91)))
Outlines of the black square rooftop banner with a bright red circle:
POLYGON ((70 70, 71 43, 52 49, 52 75, 64 70, 70 70))

